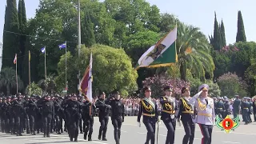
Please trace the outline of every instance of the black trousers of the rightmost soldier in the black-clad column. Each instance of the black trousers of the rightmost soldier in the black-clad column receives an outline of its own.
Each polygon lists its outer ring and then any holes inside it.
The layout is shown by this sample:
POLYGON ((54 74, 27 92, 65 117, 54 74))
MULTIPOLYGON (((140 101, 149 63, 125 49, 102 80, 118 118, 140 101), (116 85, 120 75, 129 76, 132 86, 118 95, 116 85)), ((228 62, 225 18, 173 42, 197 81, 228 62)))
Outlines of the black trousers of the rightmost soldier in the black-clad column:
POLYGON ((114 140, 116 144, 120 143, 122 117, 111 118, 112 125, 114 126, 114 140))

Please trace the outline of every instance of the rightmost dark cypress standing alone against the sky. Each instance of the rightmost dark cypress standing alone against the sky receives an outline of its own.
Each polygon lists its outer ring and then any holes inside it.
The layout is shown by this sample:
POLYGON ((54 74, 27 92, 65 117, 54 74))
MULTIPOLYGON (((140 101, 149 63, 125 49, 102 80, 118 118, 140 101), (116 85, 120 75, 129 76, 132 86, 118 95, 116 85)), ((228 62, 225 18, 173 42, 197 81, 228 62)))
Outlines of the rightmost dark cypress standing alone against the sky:
POLYGON ((246 31, 245 27, 243 26, 243 20, 242 20, 242 13, 239 10, 238 11, 238 33, 236 42, 246 42, 246 31))

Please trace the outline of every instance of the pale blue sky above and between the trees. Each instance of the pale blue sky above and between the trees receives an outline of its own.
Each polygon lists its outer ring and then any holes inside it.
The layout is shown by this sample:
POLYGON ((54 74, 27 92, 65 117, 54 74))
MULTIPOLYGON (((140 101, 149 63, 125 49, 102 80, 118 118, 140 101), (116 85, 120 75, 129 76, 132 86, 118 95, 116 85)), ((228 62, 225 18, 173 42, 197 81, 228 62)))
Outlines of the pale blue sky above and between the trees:
MULTIPOLYGON (((2 42, 6 0, 0 1, 3 1, 0 4, 0 42, 2 42)), ((25 0, 25 2, 27 18, 33 18, 39 0, 25 0)), ((174 14, 180 21, 199 27, 206 36, 214 34, 214 11, 216 11, 218 22, 221 20, 224 22, 227 44, 235 42, 238 10, 241 10, 247 41, 256 41, 255 0, 146 0, 146 2, 158 6, 161 13, 174 14)))

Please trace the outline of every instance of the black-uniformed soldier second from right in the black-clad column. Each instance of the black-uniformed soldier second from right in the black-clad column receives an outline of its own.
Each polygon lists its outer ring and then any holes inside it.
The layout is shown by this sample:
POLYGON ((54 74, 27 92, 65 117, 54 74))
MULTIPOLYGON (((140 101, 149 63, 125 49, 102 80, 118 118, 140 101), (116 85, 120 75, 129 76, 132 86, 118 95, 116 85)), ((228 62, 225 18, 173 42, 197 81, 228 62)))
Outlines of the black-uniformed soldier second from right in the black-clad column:
POLYGON ((99 127, 98 132, 98 139, 102 141, 106 141, 106 130, 107 130, 107 124, 109 122, 109 116, 110 116, 110 105, 107 105, 105 103, 106 94, 104 92, 101 92, 100 98, 95 103, 96 107, 98 108, 98 119, 99 122, 101 122, 101 126, 99 127))

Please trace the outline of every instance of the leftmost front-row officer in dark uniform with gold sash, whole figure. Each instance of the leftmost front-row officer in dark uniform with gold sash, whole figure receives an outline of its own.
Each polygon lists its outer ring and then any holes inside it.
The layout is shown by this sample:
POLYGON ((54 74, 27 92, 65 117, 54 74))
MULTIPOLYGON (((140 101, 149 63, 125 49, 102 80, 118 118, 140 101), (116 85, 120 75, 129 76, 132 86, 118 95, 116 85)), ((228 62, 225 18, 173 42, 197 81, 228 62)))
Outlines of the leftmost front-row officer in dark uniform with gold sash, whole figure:
POLYGON ((156 102, 153 102, 150 98, 151 89, 150 86, 145 86, 143 88, 143 93, 145 94, 145 98, 141 100, 139 103, 138 110, 138 126, 141 126, 141 117, 143 115, 143 123, 146 126, 147 134, 146 134, 146 142, 145 144, 154 144, 155 140, 155 123, 159 122, 158 120, 158 105, 156 102))

